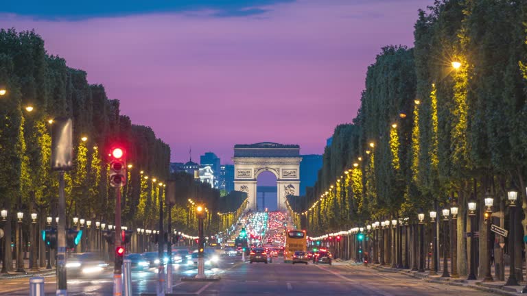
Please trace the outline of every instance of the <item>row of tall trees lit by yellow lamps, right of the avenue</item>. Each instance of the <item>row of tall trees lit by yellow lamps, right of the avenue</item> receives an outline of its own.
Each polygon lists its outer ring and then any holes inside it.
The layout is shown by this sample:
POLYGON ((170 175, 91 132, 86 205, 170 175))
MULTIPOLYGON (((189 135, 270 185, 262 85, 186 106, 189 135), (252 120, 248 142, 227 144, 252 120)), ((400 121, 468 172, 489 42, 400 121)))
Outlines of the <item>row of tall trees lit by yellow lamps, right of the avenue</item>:
MULTIPOLYGON (((415 220, 456 201, 466 231, 473 198, 485 241, 485 194, 501 225, 509 188, 527 211, 526 19, 520 0, 438 0, 420 11, 414 47, 382 49, 357 116, 325 148, 314 188, 289 197, 298 223, 316 236, 388 217, 415 220)), ((465 244, 458 240, 461 271, 465 244)))

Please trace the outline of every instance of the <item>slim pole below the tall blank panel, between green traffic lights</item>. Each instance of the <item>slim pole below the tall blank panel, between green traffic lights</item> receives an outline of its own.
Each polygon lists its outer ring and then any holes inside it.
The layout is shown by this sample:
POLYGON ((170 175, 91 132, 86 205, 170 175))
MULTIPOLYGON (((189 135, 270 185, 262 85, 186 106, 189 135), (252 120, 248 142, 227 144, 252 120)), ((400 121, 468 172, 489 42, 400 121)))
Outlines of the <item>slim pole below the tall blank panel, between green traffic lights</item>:
POLYGON ((58 172, 57 296, 68 295, 66 280, 66 199, 64 171, 58 172))

